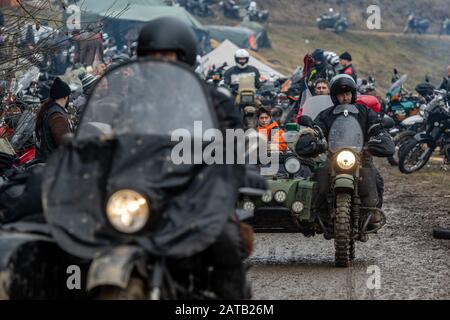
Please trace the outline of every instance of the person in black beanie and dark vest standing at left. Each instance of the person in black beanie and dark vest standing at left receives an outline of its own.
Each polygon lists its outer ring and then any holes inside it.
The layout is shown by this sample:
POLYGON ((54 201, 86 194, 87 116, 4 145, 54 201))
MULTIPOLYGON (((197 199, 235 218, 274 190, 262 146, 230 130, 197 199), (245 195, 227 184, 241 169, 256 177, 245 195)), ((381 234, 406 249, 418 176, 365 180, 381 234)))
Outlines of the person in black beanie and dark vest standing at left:
POLYGON ((56 78, 48 99, 36 118, 36 159, 46 162, 48 157, 63 144, 63 137, 72 132, 67 106, 71 90, 67 83, 56 78))

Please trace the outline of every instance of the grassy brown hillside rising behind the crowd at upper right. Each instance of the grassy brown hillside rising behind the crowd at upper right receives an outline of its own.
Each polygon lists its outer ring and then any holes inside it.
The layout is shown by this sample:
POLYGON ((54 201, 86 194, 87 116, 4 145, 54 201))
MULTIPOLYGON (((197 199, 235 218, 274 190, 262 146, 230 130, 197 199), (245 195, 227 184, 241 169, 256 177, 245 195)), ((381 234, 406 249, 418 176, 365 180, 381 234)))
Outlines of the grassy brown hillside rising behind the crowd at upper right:
MULTIPOLYGON (((369 31, 363 28, 365 20, 361 13, 365 12, 368 1, 348 1, 344 7, 349 12, 354 26, 348 33, 337 35, 332 31, 321 31, 315 26, 315 18, 320 13, 328 7, 339 8, 336 1, 259 0, 260 7, 270 9, 271 18, 267 30, 273 45, 272 49, 261 50, 259 54, 272 62, 276 69, 289 75, 302 63, 304 55, 316 48, 335 51, 338 54, 349 51, 360 77, 375 76, 382 95, 390 86, 394 67, 400 73, 408 74, 409 90, 413 90, 417 83, 423 82, 425 75, 429 75, 432 82, 438 84, 450 64, 450 37, 439 38, 436 34, 403 35, 402 19, 414 3, 416 8, 431 9, 424 10, 424 16, 441 17, 447 11, 450 15, 450 1, 372 2, 379 3, 382 8, 382 30, 369 31), (401 23, 396 23, 397 21, 401 23)), ((217 18, 203 19, 203 22, 237 24, 234 20, 224 19, 221 13, 217 18)))

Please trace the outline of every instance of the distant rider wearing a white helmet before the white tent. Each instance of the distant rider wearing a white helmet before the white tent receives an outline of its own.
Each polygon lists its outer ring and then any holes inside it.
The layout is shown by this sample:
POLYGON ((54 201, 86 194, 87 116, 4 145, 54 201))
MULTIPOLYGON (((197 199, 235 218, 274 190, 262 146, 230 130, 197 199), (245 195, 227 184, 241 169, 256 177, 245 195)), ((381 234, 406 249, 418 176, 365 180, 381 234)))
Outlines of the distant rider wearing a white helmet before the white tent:
POLYGON ((243 76, 253 76, 255 79, 255 88, 259 89, 261 87, 261 82, 259 80, 260 73, 259 70, 251 65, 249 65, 250 54, 245 49, 239 49, 234 54, 234 61, 236 65, 231 67, 225 72, 224 81, 225 84, 231 88, 233 93, 237 93, 239 89, 239 80, 243 76))

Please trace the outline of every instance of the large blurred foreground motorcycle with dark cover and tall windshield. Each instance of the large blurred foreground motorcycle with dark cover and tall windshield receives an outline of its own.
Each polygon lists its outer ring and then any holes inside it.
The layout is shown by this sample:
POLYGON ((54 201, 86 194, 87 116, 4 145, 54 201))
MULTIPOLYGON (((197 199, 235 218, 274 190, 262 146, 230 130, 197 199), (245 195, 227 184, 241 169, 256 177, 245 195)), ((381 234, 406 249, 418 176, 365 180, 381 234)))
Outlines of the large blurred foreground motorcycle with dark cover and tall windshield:
MULTIPOLYGON (((14 238, 6 230, 0 236, 2 277, 12 278, 12 253, 43 241, 52 247, 29 255, 28 271, 57 277, 68 263, 79 266, 83 298, 217 299, 223 281, 243 290, 243 265, 219 278, 223 265, 216 257, 229 250, 214 247, 235 212, 239 167, 175 164, 171 157, 175 130, 181 128, 203 152, 194 122, 204 130, 218 128, 201 80, 181 64, 140 60, 107 71, 101 81, 108 82, 106 94, 94 89, 73 140, 47 163, 42 199, 51 237, 20 238, 13 228, 14 238), (35 261, 47 253, 62 261, 35 261)), ((38 281, 33 275, 29 283, 42 285, 39 292, 65 297, 68 290, 59 292, 48 281, 53 278, 38 281)), ((21 288, 6 289, 4 295, 17 296, 21 288)))

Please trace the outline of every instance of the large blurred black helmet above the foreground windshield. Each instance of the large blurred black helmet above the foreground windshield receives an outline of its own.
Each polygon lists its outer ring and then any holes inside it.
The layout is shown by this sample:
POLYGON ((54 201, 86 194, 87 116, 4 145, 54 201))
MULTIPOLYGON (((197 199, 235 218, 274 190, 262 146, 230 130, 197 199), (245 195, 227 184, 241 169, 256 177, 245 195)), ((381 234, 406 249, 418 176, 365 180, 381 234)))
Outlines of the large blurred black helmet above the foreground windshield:
POLYGON ((137 42, 138 57, 152 51, 175 51, 179 61, 195 66, 197 40, 194 31, 177 18, 162 17, 148 22, 137 42))

